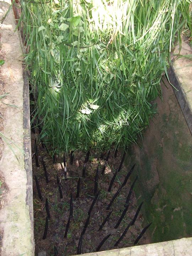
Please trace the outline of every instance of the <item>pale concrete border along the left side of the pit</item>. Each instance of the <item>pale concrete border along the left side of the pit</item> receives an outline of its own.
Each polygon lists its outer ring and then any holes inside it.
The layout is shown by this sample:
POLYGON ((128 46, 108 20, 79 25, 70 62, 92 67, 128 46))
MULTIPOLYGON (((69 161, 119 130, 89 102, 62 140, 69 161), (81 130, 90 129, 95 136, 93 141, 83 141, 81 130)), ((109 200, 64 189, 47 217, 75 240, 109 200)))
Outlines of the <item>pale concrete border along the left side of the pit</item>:
MULTIPOLYGON (((5 15, 11 1, 0 0, 1 15, 5 15)), ((12 9, 0 25, 5 64, 1 77, 5 91, 4 130, 8 139, 0 160, 0 171, 8 192, 0 211, 0 229, 3 232, 2 256, 33 256, 33 190, 31 163, 30 102, 27 73, 22 65, 20 36, 15 31, 12 9)))

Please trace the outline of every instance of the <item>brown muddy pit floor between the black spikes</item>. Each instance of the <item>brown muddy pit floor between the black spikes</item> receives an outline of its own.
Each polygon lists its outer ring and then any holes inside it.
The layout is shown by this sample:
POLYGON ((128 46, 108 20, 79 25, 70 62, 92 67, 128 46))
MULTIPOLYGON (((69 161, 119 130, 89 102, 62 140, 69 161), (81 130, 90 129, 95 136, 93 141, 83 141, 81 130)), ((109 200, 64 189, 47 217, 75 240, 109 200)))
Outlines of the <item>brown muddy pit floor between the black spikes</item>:
MULTIPOLYGON (((99 163, 99 170, 101 172, 102 167, 105 164, 105 158, 107 154, 105 154, 103 160, 97 161, 97 155, 94 152, 90 153, 89 161, 87 162, 86 167, 86 177, 81 178, 80 196, 79 198, 76 198, 77 182, 78 178, 82 177, 82 169, 86 154, 75 152, 73 165, 70 165, 70 157, 66 158, 67 180, 65 180, 64 171, 62 170, 62 167, 59 163, 61 161, 63 165, 63 160, 57 160, 57 163, 53 164, 52 158, 48 155, 46 149, 43 149, 41 145, 38 147, 40 167, 36 167, 34 156, 35 137, 36 135, 32 133, 33 208, 36 255, 38 255, 38 253, 41 251, 46 251, 47 255, 52 256, 54 255, 54 246, 56 246, 58 249, 58 255, 76 255, 80 234, 88 217, 87 212, 95 197, 94 181, 97 165, 99 163), (47 171, 49 173, 48 183, 46 183, 41 157, 43 157, 47 171), (34 181, 34 174, 37 175, 38 182, 41 187, 43 201, 38 198, 37 188, 34 181), (58 191, 57 174, 61 180, 63 192, 62 199, 60 199, 60 194, 58 191), (73 217, 70 221, 67 238, 64 238, 66 223, 69 218, 70 193, 73 194, 73 217), (42 238, 47 216, 45 209, 46 198, 49 202, 51 219, 49 220, 47 238, 43 240, 42 238)), ((113 153, 111 153, 105 174, 99 176, 98 190, 100 191, 100 195, 91 212, 90 223, 84 235, 81 253, 94 252, 98 244, 107 234, 111 234, 111 236, 103 244, 100 251, 133 246, 133 242, 142 231, 143 217, 141 214, 139 214, 135 224, 131 226, 123 240, 117 247, 114 247, 115 242, 122 235, 130 220, 133 219, 138 208, 137 199, 133 191, 130 198, 130 205, 125 217, 123 218, 119 227, 117 229, 114 228, 114 225, 117 223, 117 220, 121 216, 121 213, 124 209, 124 204, 126 202, 129 188, 132 183, 130 179, 127 181, 126 186, 123 187, 121 193, 112 204, 110 210, 106 210, 106 207, 112 196, 122 185, 124 177, 134 164, 132 163, 128 167, 123 164, 121 171, 117 174, 116 180, 113 183, 111 192, 108 192, 111 178, 118 168, 119 163, 121 162, 121 158, 121 153, 118 153, 116 158, 114 158, 113 153), (112 214, 110 218, 102 230, 98 231, 100 224, 111 210, 112 214)), ((141 245, 146 243, 147 238, 146 235, 144 235, 139 240, 138 244, 141 245)))

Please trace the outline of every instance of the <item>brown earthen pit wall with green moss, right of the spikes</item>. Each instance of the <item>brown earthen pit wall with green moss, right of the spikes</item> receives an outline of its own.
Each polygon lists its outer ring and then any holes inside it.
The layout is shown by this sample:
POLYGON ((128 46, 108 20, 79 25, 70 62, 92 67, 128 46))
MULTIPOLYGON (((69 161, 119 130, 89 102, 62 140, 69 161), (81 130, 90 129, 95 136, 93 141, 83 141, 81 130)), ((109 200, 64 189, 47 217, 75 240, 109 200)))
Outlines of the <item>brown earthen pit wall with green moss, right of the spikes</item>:
POLYGON ((162 85, 163 102, 143 135, 132 146, 127 164, 136 162, 132 179, 145 223, 153 222, 151 242, 192 236, 192 135, 172 87, 162 85))

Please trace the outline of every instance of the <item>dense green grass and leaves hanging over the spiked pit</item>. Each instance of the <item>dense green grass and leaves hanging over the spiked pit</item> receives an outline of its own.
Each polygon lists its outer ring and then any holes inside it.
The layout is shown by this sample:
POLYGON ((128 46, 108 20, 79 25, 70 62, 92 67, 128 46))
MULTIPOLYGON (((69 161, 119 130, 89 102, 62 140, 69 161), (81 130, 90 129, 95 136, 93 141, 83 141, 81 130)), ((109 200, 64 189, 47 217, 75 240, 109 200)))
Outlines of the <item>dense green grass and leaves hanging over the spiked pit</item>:
POLYGON ((136 142, 191 1, 36 2, 21 20, 41 138, 58 152, 136 142))

